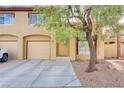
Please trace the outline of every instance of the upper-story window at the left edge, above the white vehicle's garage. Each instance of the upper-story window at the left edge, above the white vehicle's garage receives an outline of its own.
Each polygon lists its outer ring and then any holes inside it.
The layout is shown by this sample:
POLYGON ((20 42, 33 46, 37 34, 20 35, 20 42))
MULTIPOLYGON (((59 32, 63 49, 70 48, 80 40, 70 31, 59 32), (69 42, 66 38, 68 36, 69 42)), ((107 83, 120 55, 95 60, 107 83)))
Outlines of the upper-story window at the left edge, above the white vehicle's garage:
POLYGON ((0 24, 12 24, 14 19, 13 13, 0 14, 0 24))

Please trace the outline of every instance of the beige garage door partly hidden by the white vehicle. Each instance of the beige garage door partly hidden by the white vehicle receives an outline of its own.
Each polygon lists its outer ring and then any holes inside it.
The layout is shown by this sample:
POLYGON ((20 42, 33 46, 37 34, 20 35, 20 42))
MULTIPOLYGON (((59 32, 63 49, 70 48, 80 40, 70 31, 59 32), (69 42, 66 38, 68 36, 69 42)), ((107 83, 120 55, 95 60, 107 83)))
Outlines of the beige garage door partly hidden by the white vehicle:
POLYGON ((0 41, 0 48, 8 50, 9 59, 17 59, 17 41, 0 41))

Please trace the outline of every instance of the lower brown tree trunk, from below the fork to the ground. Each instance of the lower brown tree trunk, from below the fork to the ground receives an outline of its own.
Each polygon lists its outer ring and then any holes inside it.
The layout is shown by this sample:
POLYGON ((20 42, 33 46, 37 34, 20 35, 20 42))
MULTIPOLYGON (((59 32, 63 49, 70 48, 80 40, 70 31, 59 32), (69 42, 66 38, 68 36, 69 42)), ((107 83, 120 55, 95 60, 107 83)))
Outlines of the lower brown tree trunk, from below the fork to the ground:
POLYGON ((95 45, 94 45, 94 41, 93 41, 93 37, 92 37, 92 33, 91 32, 87 32, 87 41, 89 44, 89 50, 90 50, 90 63, 87 69, 87 72, 93 72, 96 69, 95 64, 96 64, 96 49, 95 49, 95 45))

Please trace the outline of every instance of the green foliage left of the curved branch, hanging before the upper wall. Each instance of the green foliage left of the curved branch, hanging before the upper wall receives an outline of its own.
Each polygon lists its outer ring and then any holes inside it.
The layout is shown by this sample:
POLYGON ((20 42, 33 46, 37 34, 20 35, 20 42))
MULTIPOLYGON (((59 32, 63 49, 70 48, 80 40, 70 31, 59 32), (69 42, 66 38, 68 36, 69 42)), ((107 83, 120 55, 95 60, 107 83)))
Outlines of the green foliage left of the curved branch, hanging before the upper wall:
POLYGON ((37 24, 44 26, 47 31, 54 35, 57 42, 64 42, 67 44, 70 38, 77 36, 68 24, 68 10, 62 6, 36 6, 34 10, 37 13, 45 14, 44 24, 37 24))

